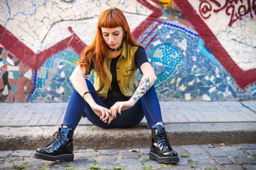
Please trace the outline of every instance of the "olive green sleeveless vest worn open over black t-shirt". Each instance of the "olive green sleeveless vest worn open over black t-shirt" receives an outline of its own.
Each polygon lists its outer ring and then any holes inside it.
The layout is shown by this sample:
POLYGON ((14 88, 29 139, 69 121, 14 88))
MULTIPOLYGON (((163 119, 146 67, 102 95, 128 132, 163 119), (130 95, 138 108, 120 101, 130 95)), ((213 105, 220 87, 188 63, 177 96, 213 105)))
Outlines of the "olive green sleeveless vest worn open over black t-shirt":
MULTIPOLYGON (((117 81, 120 87, 120 90, 123 95, 128 98, 131 98, 133 92, 137 87, 137 66, 134 63, 134 54, 137 51, 138 46, 131 46, 123 40, 123 50, 121 57, 116 64, 116 74, 117 81)), ((105 100, 108 97, 108 91, 112 81, 112 75, 110 72, 110 63, 112 58, 110 56, 109 50, 106 50, 105 59, 104 59, 104 68, 106 75, 109 77, 108 84, 104 84, 100 79, 99 75, 94 72, 94 88, 100 96, 101 100, 105 100)), ((108 81, 108 80, 107 80, 108 81)))

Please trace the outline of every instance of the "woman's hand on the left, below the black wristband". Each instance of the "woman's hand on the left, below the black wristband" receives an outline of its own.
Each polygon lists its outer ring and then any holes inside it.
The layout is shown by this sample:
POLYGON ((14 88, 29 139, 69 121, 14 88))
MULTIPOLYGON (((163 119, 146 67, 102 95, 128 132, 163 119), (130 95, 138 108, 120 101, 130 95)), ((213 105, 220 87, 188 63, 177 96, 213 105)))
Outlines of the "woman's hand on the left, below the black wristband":
POLYGON ((108 123, 108 118, 109 118, 109 124, 110 124, 112 117, 110 115, 109 109, 98 105, 96 102, 93 102, 90 106, 93 109, 94 113, 100 117, 102 122, 108 123))

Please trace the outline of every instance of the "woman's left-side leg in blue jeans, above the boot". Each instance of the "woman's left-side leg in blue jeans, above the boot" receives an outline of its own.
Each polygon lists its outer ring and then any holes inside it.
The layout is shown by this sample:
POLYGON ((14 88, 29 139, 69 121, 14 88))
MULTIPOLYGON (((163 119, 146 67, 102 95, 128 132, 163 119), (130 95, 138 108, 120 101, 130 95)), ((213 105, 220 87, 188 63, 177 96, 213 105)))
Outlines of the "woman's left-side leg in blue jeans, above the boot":
MULTIPOLYGON (((86 82, 87 82, 88 89, 89 89, 91 95, 93 96, 94 101, 98 105, 100 105, 102 107, 106 107, 105 104, 100 99, 97 92, 95 91, 92 83, 89 80, 86 80, 86 82)), ((86 111, 87 116, 89 116, 91 114, 95 114, 94 111, 91 109, 90 105, 86 101, 84 101, 82 99, 81 95, 74 89, 73 93, 71 95, 62 125, 65 125, 71 129, 75 129, 77 127, 78 123, 80 122, 80 119, 82 117, 84 110, 86 111), (87 108, 87 109, 85 109, 85 108, 87 108), (90 109, 88 109, 88 108, 90 108, 90 109)), ((97 116, 97 118, 100 120, 99 116, 97 116)), ((105 124, 105 123, 103 123, 103 124, 105 124)))

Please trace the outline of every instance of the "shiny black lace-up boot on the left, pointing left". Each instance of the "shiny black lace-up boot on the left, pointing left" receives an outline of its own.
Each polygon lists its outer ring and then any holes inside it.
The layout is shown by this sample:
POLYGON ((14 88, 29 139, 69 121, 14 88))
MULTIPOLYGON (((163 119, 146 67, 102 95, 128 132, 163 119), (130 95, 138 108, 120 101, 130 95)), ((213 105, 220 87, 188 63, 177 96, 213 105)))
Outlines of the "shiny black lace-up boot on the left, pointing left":
POLYGON ((73 161, 73 134, 73 129, 59 128, 58 132, 53 134, 56 138, 52 142, 45 148, 38 148, 36 150, 35 158, 49 161, 57 161, 61 159, 66 162, 73 161))

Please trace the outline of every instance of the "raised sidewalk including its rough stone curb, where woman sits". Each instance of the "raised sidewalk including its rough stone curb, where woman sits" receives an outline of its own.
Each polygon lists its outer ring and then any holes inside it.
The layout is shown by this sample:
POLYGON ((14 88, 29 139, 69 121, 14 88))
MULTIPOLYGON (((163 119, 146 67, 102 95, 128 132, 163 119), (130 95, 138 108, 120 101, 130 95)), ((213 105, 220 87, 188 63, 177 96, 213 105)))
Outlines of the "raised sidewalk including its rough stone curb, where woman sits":
MULTIPOLYGON (((256 101, 160 102, 167 137, 173 145, 256 143, 256 101)), ((35 150, 52 140, 67 103, 0 104, 0 150, 35 150)), ((145 118, 129 129, 102 129, 82 118, 75 149, 115 149, 151 145, 145 118)))

